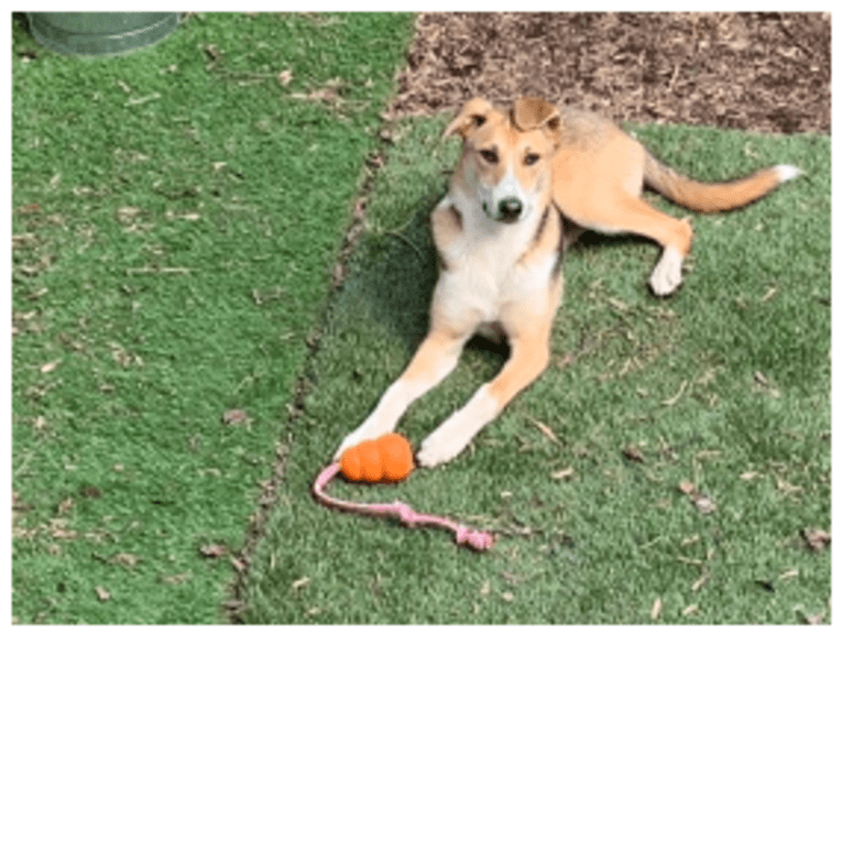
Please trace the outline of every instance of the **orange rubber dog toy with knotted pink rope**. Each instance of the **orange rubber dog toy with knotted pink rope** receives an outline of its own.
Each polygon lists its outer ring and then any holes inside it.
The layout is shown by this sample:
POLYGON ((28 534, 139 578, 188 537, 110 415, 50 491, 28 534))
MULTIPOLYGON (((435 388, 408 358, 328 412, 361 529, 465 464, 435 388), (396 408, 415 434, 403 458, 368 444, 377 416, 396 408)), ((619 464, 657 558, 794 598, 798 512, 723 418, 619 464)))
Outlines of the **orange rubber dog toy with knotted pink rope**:
POLYGON ((494 544, 491 533, 472 529, 464 524, 458 524, 450 518, 437 515, 425 515, 415 512, 401 501, 386 504, 352 503, 330 497, 324 491, 337 474, 347 480, 363 483, 398 483, 405 480, 415 467, 413 449, 401 434, 386 434, 380 439, 373 439, 349 448, 340 458, 325 468, 313 485, 314 497, 325 506, 342 512, 374 515, 387 518, 398 518, 408 527, 430 526, 449 529, 455 534, 458 545, 464 545, 472 550, 489 550, 494 544))

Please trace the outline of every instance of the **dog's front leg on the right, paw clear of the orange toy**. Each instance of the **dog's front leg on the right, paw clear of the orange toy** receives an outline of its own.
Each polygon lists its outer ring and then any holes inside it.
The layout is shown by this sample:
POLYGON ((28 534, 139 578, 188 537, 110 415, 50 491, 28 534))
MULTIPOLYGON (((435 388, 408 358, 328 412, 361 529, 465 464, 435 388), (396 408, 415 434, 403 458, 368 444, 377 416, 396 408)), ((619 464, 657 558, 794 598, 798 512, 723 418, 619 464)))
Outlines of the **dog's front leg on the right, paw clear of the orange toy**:
POLYGON ((481 428, 541 374, 550 359, 550 326, 551 319, 540 320, 523 336, 510 336, 512 352, 501 372, 421 442, 416 455, 419 466, 433 468, 453 459, 481 428))

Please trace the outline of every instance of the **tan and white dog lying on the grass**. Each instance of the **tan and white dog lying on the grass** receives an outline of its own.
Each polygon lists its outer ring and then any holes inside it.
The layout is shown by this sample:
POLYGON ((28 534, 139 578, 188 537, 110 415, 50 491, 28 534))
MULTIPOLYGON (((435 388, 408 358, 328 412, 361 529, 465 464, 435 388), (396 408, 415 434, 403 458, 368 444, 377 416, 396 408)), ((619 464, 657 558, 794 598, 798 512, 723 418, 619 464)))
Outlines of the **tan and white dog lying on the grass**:
POLYGON ((664 251, 649 286, 657 296, 674 293, 691 225, 656 210, 642 198, 644 187, 713 212, 748 205, 800 174, 785 164, 734 182, 697 182, 611 121, 539 98, 519 99, 508 111, 471 99, 444 136, 453 134, 462 154, 430 218, 440 272, 429 331, 337 459, 394 430, 407 407, 455 369, 473 335, 505 337, 510 357, 500 373, 423 441, 416 460, 431 468, 460 453, 547 366, 562 297, 561 255, 583 230, 655 240, 664 251))

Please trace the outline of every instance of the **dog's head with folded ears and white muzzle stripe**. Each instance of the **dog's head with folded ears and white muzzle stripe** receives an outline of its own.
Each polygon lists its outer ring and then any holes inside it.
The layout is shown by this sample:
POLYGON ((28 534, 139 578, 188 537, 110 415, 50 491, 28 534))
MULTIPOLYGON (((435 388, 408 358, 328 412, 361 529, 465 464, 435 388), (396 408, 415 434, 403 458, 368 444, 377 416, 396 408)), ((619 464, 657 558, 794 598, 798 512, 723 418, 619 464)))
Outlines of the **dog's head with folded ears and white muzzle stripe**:
POLYGON ((550 187, 550 162, 559 145, 561 116, 543 99, 519 99, 501 111, 471 99, 448 124, 445 136, 462 138, 462 172, 483 210, 497 222, 529 216, 550 187))

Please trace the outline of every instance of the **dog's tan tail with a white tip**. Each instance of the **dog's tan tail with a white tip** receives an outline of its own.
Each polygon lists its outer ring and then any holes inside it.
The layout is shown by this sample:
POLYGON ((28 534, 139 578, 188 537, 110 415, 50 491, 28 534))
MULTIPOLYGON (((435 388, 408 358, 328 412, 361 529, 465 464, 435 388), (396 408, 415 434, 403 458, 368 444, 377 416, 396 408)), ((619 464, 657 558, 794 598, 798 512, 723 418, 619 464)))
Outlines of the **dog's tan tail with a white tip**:
POLYGON ((790 164, 779 164, 767 169, 759 169, 744 178, 734 182, 709 183, 696 182, 693 178, 670 169, 657 161, 649 152, 644 162, 644 184, 652 190, 661 194, 677 205, 689 210, 714 214, 732 210, 749 205, 762 196, 766 196, 782 182, 788 182, 801 175, 802 171, 790 164))

